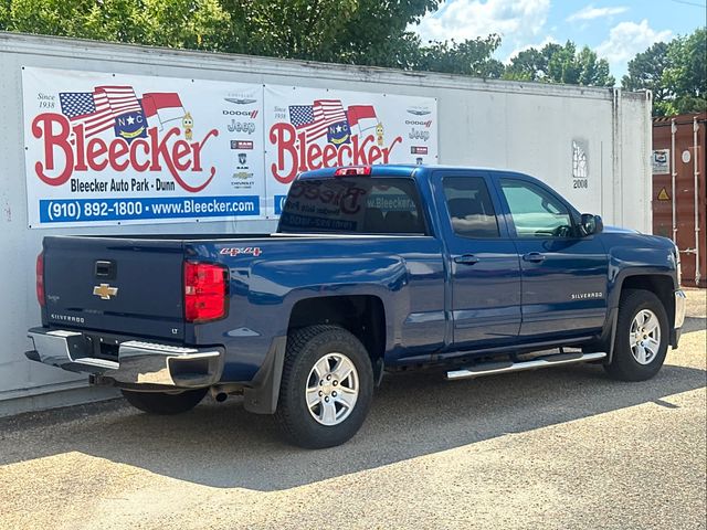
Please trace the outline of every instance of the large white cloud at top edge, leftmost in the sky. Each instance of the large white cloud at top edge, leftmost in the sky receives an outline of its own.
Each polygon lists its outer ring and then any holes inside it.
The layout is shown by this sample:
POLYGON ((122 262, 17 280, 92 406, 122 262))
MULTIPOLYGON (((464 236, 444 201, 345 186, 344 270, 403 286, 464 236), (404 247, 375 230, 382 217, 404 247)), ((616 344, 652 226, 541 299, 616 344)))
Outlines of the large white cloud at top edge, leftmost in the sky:
POLYGON ((520 46, 542 33, 550 0, 450 0, 413 25, 423 43, 463 41, 498 33, 504 44, 520 46))

